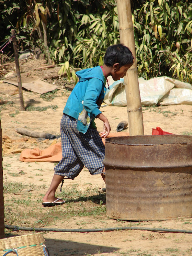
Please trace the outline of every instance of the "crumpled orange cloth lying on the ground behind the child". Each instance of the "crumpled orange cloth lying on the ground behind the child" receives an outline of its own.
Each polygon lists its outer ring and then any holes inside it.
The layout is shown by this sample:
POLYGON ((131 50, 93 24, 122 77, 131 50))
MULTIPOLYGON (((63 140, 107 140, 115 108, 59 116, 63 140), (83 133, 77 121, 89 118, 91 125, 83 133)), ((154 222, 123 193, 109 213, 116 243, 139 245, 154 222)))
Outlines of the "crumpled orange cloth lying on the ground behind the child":
MULTIPOLYGON (((116 136, 128 136, 128 132, 110 133, 109 137, 116 136)), ((101 134, 100 134, 101 136, 101 134)), ((102 138, 103 144, 105 145, 105 138, 102 138)), ((46 149, 39 150, 39 148, 26 148, 21 152, 19 160, 21 162, 59 162, 62 159, 61 142, 49 146, 46 149)))

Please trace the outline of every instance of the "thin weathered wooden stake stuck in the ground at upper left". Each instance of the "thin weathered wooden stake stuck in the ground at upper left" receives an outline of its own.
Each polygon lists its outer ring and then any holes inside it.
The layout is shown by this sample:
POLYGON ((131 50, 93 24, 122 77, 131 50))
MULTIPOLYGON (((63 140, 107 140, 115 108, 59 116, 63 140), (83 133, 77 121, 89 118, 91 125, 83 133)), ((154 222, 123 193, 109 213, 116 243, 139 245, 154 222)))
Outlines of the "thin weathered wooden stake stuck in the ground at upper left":
POLYGON ((21 74, 20 74, 20 68, 19 68, 19 55, 18 55, 18 50, 17 50, 17 43, 16 43, 16 37, 15 37, 14 29, 11 30, 11 34, 13 36, 12 40, 13 40, 15 66, 16 66, 16 73, 17 73, 17 80, 18 80, 18 87, 19 87, 20 106, 21 106, 21 110, 25 111, 24 101, 23 101, 22 84, 21 84, 21 74))

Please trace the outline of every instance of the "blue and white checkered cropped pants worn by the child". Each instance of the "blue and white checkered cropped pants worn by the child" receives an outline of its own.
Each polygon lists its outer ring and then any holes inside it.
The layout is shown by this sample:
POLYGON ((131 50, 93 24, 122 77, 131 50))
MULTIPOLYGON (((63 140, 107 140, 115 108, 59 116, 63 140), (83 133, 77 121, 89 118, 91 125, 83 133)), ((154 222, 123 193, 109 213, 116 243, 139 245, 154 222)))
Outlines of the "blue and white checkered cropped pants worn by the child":
POLYGON ((63 158, 55 166, 55 174, 73 180, 84 166, 91 175, 101 174, 105 147, 97 129, 89 127, 83 134, 77 130, 77 120, 64 114, 60 131, 63 158))

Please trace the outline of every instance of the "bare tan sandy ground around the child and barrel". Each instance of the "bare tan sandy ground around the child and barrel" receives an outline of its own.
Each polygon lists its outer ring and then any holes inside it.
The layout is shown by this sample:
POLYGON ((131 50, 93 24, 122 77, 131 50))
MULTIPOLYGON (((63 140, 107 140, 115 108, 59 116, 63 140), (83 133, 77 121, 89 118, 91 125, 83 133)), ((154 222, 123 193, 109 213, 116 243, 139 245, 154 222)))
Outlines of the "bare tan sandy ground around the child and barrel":
MULTIPOLYGON (((22 70, 27 68, 28 76, 30 73, 30 65, 35 64, 35 60, 24 63, 22 70)), ((12 67, 12 66, 11 66, 12 67)), ((10 69, 11 69, 10 67, 10 69)), ((13 68, 14 69, 14 68, 13 68)), ((53 70, 34 71, 36 76, 47 74, 53 70)), ((56 72, 56 71, 55 71, 56 72)), ((26 74, 25 74, 26 75, 26 74)), ((47 81, 51 82, 53 76, 49 76, 47 81)), ((3 135, 3 175, 4 181, 13 181, 13 176, 8 174, 23 171, 25 175, 15 176, 14 181, 22 182, 22 184, 33 183, 36 185, 45 184, 49 186, 55 163, 23 163, 19 161, 20 152, 25 148, 47 148, 53 143, 53 140, 30 138, 20 135, 16 132, 17 127, 25 127, 32 131, 47 132, 60 135, 60 119, 62 111, 70 94, 66 90, 66 80, 54 78, 57 81, 58 89, 56 98, 47 102, 40 98, 40 95, 31 91, 24 90, 23 97, 25 105, 32 103, 33 106, 45 107, 48 105, 57 105, 58 108, 47 109, 45 111, 20 111, 19 94, 16 87, 9 84, 0 84, 0 107, 1 107, 1 126, 3 135), (13 103, 10 103, 13 102, 13 103), (17 111, 18 110, 18 111, 17 111), (43 179, 37 174, 39 170, 43 173, 43 179)), ((53 82, 52 80, 52 82, 53 82)), ((103 107, 105 114, 111 125, 111 132, 116 132, 116 127, 121 121, 128 121, 126 107, 103 107)), ((152 128, 161 127, 162 130, 174 134, 192 134, 192 105, 171 105, 163 107, 143 108, 143 123, 145 135, 151 135, 152 128)), ((96 120, 98 131, 102 131, 102 122, 96 120)), ((128 129, 125 130, 128 132, 128 129)), ((59 142, 60 138, 54 140, 59 142)), ((104 183, 100 175, 91 176, 86 168, 74 180, 67 180, 67 185, 78 184, 78 189, 85 189, 90 183, 92 187, 104 187, 104 183)), ((46 189, 42 191, 44 193, 46 189)), ((41 198, 40 198, 41 200, 41 198)), ((41 202, 39 203, 41 204, 41 202)), ((46 211, 46 209, 44 209, 46 211)), ((100 227, 117 227, 128 226, 129 222, 118 222, 102 216, 98 219, 84 217, 78 220, 69 219, 65 222, 57 222, 50 227, 55 228, 74 228, 78 229, 78 221, 85 222, 85 228, 100 227)), ((182 218, 167 221, 148 221, 135 225, 167 228, 167 229, 183 229, 192 230, 192 218, 182 218)), ((50 255, 143 255, 143 256, 159 256, 159 255, 192 255, 192 235, 185 233, 166 233, 151 231, 113 231, 113 232, 97 232, 97 233, 61 233, 48 232, 44 234, 46 245, 49 248, 50 255)))

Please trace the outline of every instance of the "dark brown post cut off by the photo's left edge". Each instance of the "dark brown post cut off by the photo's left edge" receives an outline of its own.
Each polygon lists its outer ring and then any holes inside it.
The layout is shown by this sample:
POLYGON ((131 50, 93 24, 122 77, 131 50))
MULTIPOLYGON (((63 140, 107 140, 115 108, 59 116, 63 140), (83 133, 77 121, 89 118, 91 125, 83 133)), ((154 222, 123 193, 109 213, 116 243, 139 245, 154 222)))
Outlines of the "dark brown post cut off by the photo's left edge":
POLYGON ((2 129, 0 114, 0 239, 4 238, 4 198, 3 198, 3 157, 2 157, 2 129))

